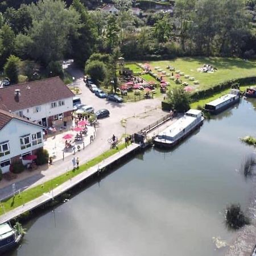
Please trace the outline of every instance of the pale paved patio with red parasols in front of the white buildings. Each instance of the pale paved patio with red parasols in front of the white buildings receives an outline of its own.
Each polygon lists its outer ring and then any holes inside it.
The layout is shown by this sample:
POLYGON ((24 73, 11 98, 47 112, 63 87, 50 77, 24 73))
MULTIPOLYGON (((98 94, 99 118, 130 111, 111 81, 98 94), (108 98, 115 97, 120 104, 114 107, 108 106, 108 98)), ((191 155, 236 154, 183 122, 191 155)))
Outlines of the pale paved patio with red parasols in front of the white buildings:
POLYGON ((44 140, 44 148, 49 152, 53 162, 66 158, 74 152, 83 150, 88 146, 96 135, 93 126, 73 126, 64 133, 56 134, 44 140), (86 131, 84 132, 84 129, 86 131))

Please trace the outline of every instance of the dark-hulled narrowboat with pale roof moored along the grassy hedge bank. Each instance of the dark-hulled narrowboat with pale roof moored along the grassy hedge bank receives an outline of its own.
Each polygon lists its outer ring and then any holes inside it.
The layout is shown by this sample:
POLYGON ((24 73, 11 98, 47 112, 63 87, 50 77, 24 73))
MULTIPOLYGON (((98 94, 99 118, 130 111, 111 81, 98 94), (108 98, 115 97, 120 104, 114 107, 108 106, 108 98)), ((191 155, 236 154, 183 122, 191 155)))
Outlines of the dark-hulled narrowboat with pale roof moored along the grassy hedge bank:
POLYGON ((229 108, 240 100, 240 90, 232 89, 229 94, 221 96, 217 100, 205 105, 205 110, 210 114, 218 114, 222 110, 229 108))

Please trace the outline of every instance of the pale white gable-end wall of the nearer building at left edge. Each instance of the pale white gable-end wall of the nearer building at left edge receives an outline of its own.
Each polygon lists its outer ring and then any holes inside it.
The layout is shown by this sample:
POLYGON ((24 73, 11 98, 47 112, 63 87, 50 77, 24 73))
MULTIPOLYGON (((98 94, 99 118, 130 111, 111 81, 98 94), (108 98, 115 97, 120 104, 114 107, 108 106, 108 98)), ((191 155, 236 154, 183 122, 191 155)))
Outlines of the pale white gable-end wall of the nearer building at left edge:
MULTIPOLYGON (((38 133, 42 128, 40 126, 32 125, 30 123, 26 123, 20 121, 18 119, 12 119, 3 129, 0 130, 0 143, 9 141, 10 154, 5 156, 0 156, 0 162, 4 160, 8 160, 13 158, 14 156, 24 154, 28 151, 35 150, 37 148, 43 147, 43 134, 42 134, 42 143, 24 148, 23 150, 20 148, 20 137, 26 134, 38 133)), ((31 138, 30 138, 31 139, 31 138)), ((9 171, 9 167, 1 168, 2 172, 5 173, 9 171)))

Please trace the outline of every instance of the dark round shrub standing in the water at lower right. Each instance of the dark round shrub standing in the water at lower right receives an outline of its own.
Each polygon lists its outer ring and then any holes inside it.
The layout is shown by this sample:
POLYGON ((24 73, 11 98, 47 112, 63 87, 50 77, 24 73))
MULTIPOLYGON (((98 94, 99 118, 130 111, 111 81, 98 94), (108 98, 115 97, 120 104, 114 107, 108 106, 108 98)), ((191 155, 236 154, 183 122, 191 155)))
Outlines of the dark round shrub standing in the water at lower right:
POLYGON ((231 204, 226 208, 226 225, 230 229, 239 229, 250 223, 248 217, 241 210, 240 204, 231 204))

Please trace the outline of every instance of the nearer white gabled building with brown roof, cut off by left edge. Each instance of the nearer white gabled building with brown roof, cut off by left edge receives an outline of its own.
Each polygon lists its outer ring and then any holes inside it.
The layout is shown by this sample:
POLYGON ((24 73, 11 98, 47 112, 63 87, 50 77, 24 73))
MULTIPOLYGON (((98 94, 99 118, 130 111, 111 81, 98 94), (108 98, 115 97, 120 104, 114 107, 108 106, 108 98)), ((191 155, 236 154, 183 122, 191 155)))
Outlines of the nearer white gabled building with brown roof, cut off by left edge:
POLYGON ((0 167, 9 171, 12 162, 34 155, 43 147, 43 127, 0 110, 0 167))

